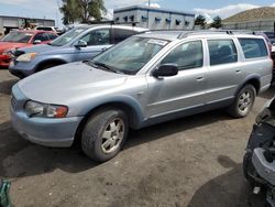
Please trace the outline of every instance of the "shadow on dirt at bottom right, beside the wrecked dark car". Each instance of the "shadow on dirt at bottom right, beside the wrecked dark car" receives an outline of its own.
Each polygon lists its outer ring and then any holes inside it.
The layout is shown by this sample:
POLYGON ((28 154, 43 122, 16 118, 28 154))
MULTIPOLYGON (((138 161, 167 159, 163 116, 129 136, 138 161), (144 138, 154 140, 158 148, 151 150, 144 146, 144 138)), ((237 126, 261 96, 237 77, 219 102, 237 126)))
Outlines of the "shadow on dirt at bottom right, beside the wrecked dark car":
POLYGON ((220 155, 218 162, 230 171, 204 184, 197 189, 187 207, 265 207, 265 196, 254 195, 244 179, 242 164, 220 155))

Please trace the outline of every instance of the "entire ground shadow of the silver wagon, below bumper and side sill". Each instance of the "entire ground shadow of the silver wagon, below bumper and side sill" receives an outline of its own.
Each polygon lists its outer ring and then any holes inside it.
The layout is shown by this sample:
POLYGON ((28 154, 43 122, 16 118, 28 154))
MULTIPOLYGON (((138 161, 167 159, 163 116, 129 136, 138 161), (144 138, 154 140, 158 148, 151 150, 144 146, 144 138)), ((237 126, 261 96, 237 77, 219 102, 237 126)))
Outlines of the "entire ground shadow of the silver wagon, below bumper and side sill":
MULTIPOLYGON (((231 118, 218 110, 131 131, 123 150, 223 119, 231 118)), ((25 177, 56 168, 79 173, 98 165, 100 164, 89 160, 78 146, 68 149, 41 146, 21 138, 10 122, 0 124, 0 177, 25 177)))

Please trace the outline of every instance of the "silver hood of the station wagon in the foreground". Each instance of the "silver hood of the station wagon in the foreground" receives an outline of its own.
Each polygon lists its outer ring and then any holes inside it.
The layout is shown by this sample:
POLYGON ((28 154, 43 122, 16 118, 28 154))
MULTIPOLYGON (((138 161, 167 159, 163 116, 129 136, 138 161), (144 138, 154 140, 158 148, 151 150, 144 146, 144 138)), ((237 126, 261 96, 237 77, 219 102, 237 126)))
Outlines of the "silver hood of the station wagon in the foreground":
POLYGON ((127 77, 77 62, 29 76, 18 86, 32 100, 69 106, 79 99, 113 90, 123 85, 127 77))

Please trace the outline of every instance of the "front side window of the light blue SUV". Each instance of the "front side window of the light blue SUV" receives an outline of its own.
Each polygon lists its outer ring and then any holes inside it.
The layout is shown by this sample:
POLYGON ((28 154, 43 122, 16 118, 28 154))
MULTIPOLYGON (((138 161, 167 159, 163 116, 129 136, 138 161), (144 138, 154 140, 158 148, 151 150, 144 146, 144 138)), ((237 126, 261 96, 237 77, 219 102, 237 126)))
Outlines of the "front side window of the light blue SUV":
POLYGON ((94 30, 88 34, 86 34, 80 40, 87 42, 88 46, 111 44, 110 30, 109 29, 94 30))

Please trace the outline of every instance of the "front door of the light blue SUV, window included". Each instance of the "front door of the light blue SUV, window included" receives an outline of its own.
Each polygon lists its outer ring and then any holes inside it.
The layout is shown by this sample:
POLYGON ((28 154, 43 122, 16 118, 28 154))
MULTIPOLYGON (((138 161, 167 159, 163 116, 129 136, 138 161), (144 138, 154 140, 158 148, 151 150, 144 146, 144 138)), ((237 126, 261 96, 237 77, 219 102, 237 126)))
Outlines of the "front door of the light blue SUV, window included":
POLYGON ((112 46, 110 29, 92 30, 79 40, 87 42, 87 47, 75 47, 74 62, 90 59, 112 46))

